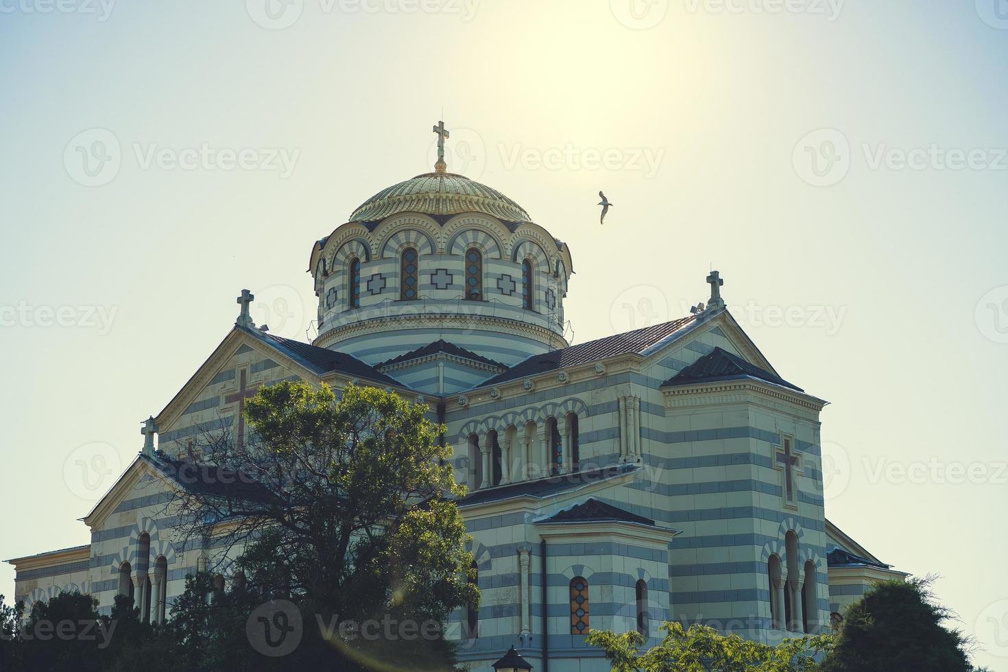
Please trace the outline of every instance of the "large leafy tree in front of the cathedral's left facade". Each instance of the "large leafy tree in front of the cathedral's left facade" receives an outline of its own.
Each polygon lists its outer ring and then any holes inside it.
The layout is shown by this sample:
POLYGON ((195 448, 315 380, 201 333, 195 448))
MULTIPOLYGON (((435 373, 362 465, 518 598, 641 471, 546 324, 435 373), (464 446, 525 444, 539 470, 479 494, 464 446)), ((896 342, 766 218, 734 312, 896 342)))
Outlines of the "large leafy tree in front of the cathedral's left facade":
MULTIPOLYGON (((426 411, 374 388, 349 386, 337 400, 326 385, 283 382, 246 403, 245 440, 202 439, 213 468, 194 471, 204 481, 171 505, 191 521, 186 539, 244 545, 243 580, 208 602, 209 578, 194 577, 173 606, 166 633, 202 652, 192 669, 234 669, 234 651, 220 668, 215 652, 249 650, 252 611, 274 597, 294 603, 303 624, 301 644, 276 667, 453 666, 444 624, 479 593, 450 499, 464 490, 438 440, 445 427, 426 411)), ((273 662, 260 655, 253 666, 273 662)))

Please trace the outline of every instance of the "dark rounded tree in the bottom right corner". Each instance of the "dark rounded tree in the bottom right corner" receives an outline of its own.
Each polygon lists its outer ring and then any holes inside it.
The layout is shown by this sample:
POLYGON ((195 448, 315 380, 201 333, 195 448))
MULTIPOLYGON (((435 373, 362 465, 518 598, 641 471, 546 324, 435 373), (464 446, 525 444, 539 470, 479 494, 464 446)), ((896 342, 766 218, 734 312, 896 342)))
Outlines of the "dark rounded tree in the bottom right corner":
POLYGON ((844 614, 828 672, 969 671, 970 640, 942 624, 955 618, 931 593, 933 576, 875 584, 844 614))

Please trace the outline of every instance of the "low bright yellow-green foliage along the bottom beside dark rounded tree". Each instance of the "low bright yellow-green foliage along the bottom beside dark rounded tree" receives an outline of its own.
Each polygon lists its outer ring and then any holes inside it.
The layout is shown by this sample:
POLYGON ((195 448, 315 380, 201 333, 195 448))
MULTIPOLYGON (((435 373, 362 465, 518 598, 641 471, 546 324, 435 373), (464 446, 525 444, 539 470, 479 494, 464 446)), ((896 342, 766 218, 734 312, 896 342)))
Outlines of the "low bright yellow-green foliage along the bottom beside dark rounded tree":
POLYGON ((644 636, 593 630, 585 642, 603 649, 613 672, 792 672, 817 670, 816 657, 829 651, 831 635, 784 640, 777 646, 738 635, 721 635, 710 626, 668 622, 661 644, 643 653, 644 636))

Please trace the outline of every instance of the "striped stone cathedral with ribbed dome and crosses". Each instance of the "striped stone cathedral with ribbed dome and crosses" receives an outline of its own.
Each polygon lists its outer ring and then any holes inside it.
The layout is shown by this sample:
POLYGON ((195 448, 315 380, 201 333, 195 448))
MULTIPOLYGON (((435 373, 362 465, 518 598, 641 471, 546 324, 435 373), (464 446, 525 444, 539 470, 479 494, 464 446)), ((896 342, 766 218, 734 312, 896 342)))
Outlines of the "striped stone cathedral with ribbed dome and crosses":
POLYGON ((201 431, 241 441, 245 400, 283 380, 380 387, 447 425, 482 592, 448 637, 475 671, 511 647, 535 670, 606 670, 590 628, 653 645, 669 620, 775 643, 905 576, 827 519, 827 402, 781 378, 717 271, 689 314, 572 346, 571 247, 449 172, 449 133, 434 131, 433 172, 382 189, 311 245, 313 341, 257 326, 243 291, 234 328, 83 518, 91 543, 9 560, 17 599, 78 589, 108 614, 133 594, 161 622, 187 574, 218 567, 230 580, 230 559, 176 543, 163 503, 193 486, 164 477, 201 431))

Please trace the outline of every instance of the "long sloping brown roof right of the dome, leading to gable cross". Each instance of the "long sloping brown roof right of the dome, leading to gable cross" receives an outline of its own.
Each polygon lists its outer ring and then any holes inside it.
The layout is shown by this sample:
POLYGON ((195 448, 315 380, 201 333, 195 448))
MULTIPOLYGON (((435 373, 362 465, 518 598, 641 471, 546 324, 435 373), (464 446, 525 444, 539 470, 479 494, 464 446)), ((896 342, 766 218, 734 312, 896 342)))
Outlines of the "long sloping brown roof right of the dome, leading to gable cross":
POLYGON ((555 371, 566 367, 578 366, 598 362, 610 357, 636 353, 642 355, 649 348, 661 343, 682 327, 690 324, 696 315, 688 315, 680 319, 673 319, 669 322, 662 322, 654 326, 617 333, 616 335, 589 341, 588 343, 562 348, 544 355, 535 355, 522 362, 519 362, 510 370, 490 379, 480 385, 496 385, 517 378, 527 378, 547 371, 555 371))

